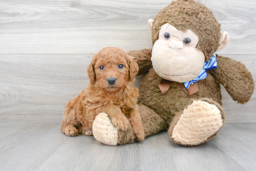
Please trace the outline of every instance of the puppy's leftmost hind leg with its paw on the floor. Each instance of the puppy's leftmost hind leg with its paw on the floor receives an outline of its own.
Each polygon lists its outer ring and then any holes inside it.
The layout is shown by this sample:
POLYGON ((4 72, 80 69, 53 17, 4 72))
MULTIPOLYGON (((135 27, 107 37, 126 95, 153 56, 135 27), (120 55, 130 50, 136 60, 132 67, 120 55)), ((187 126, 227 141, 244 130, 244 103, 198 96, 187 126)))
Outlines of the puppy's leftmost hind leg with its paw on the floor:
POLYGON ((73 109, 66 109, 63 112, 63 120, 61 122, 61 131, 67 136, 77 136, 78 130, 74 125, 78 125, 78 120, 73 109))

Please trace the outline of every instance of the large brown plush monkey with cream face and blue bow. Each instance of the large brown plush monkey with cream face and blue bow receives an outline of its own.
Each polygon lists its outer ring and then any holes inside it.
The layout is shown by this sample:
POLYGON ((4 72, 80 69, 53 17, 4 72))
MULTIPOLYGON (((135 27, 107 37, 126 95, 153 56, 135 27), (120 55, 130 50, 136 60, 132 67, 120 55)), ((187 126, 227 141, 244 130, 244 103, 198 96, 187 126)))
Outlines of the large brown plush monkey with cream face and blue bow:
MULTIPOLYGON (((138 75, 145 74, 138 100, 145 137, 168 131, 181 145, 212 139, 225 122, 220 84, 240 104, 254 90, 252 75, 241 62, 215 55, 227 46, 229 34, 221 33, 213 13, 194 0, 173 1, 148 26, 153 49, 128 53, 135 57, 138 75)), ((112 145, 138 140, 131 127, 116 130, 110 119, 100 114, 94 120, 93 129, 109 131, 94 132, 96 139, 112 145)))

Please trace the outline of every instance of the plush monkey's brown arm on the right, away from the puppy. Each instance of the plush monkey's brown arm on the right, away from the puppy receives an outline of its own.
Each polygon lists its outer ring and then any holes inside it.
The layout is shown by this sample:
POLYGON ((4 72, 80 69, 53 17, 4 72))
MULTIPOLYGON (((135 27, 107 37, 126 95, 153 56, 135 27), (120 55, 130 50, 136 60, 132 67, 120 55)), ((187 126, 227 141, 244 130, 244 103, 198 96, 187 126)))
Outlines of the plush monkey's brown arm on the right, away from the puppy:
POLYGON ((234 59, 216 56, 217 68, 209 72, 221 83, 233 100, 245 104, 254 90, 254 80, 245 65, 234 59))

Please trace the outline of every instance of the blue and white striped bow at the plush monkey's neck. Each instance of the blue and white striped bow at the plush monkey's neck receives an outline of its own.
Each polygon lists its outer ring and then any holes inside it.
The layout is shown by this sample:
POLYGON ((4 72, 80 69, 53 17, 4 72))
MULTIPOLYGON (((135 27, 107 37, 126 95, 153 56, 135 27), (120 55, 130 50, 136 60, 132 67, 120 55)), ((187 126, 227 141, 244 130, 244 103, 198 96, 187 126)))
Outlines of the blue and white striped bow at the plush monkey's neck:
POLYGON ((207 77, 207 70, 215 69, 217 67, 217 61, 216 61, 216 53, 212 55, 212 57, 207 61, 204 62, 202 71, 200 74, 195 78, 192 79, 191 81, 185 82, 184 85, 186 89, 189 89, 190 85, 193 85, 196 81, 199 81, 201 79, 205 79, 207 77))

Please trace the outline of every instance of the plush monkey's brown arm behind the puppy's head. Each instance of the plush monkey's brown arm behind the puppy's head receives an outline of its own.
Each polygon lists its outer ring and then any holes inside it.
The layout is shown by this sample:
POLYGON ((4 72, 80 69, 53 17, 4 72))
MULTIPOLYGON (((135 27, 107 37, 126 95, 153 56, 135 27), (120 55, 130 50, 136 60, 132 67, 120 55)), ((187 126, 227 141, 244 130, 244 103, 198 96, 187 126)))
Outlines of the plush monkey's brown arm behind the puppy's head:
POLYGON ((151 62, 151 53, 152 49, 141 49, 128 52, 128 55, 134 57, 133 60, 139 66, 139 72, 137 73, 137 75, 146 73, 150 68, 153 67, 151 62))

